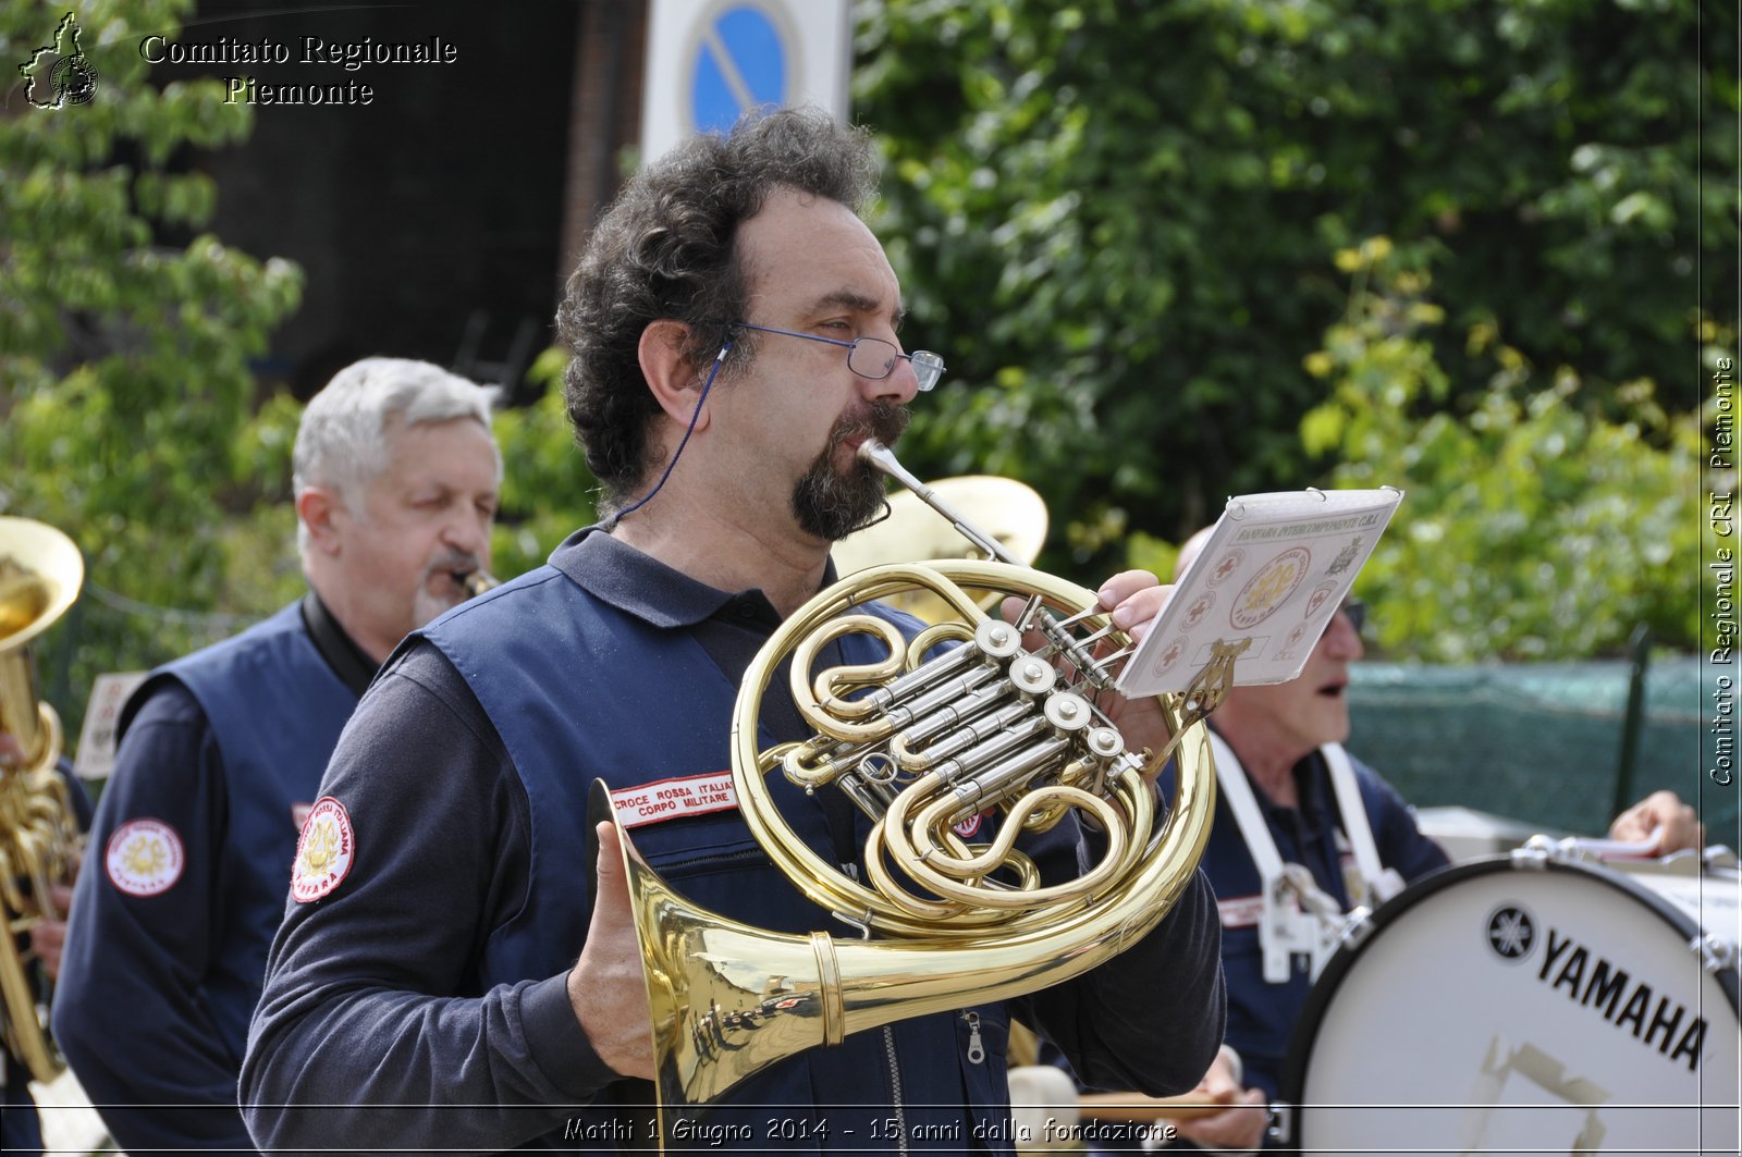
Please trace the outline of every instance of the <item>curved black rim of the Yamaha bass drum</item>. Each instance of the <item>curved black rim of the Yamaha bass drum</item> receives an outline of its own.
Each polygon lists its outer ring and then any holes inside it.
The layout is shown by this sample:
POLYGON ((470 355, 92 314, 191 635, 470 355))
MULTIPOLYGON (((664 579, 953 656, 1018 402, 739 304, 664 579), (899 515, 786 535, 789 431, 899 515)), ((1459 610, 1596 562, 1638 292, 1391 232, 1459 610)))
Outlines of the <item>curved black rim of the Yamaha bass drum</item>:
MULTIPOLYGON (((1521 859, 1512 854, 1484 856, 1481 859, 1462 861, 1456 864, 1448 864, 1439 868, 1420 880, 1409 883, 1402 892, 1394 896, 1390 901, 1374 910, 1373 927, 1361 939, 1361 944, 1350 948, 1343 944, 1336 950, 1336 955, 1326 964, 1324 972, 1313 983, 1312 991, 1306 993, 1306 1004, 1301 1005, 1300 1016, 1294 1019, 1294 1032, 1289 1033, 1289 1051, 1282 1059, 1282 1080, 1277 1082, 1277 1096, 1287 1105, 1289 1112, 1289 1133, 1291 1136, 1284 1141, 1286 1145, 1298 1145, 1301 1133, 1301 1120, 1305 1117, 1301 1094, 1306 1086, 1306 1056, 1312 1052, 1312 1045, 1319 1039, 1319 1028, 1324 1021, 1324 1009, 1336 993, 1343 988, 1343 981, 1348 978, 1348 971, 1354 967, 1361 953, 1374 941, 1374 937, 1383 936, 1385 930, 1397 924, 1399 917, 1420 904, 1428 896, 1442 892, 1448 887, 1462 883, 1470 876, 1488 876, 1496 871, 1564 871, 1571 875, 1580 875, 1597 883, 1629 892, 1634 899, 1644 903, 1646 908, 1662 917, 1671 927, 1681 932, 1685 937, 1704 932, 1704 929, 1693 922, 1693 918, 1681 908, 1664 899, 1651 889, 1634 883, 1624 868, 1608 868, 1603 864, 1583 864, 1578 861, 1561 861, 1561 859, 1521 859)), ((1723 990, 1725 998, 1730 1002, 1730 1011, 1742 1019, 1742 983, 1739 983, 1737 967, 1725 965, 1712 972, 1718 986, 1723 990)))

